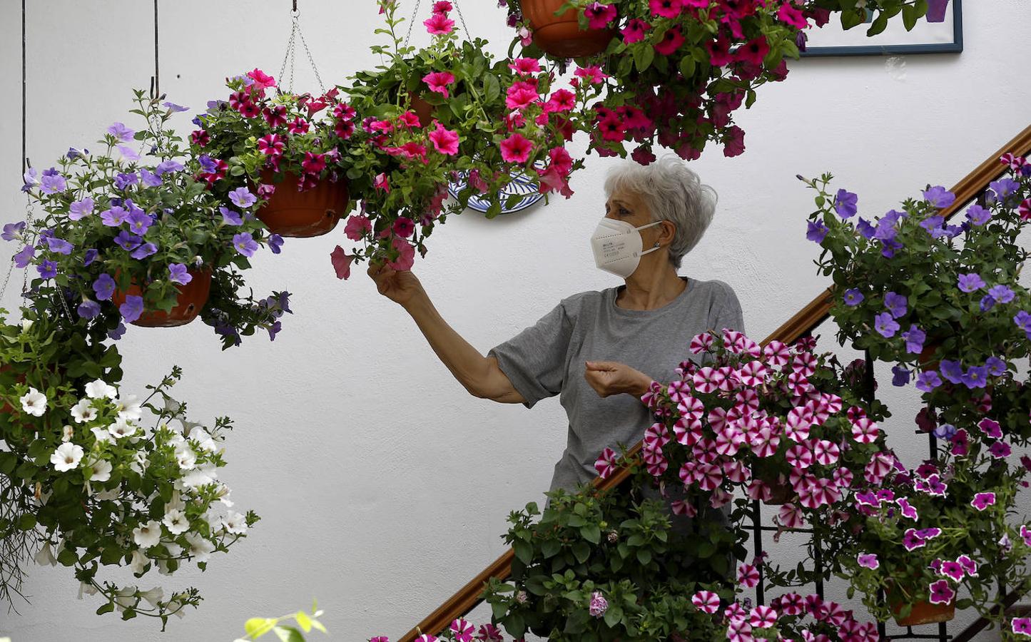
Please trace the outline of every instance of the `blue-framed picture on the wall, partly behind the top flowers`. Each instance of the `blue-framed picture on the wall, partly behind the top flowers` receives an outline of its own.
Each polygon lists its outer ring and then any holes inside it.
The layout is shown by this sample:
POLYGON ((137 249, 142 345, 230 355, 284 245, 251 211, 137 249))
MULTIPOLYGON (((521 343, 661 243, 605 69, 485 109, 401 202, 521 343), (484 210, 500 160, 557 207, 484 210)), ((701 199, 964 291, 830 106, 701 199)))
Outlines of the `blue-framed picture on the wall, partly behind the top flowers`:
POLYGON ((873 22, 873 11, 867 11, 866 25, 844 30, 840 22, 831 21, 822 28, 805 33, 808 40, 804 58, 820 56, 887 56, 898 54, 958 54, 963 50, 962 0, 929 0, 927 15, 917 21, 912 31, 906 31, 901 16, 896 15, 888 27, 875 36, 866 30, 873 22))

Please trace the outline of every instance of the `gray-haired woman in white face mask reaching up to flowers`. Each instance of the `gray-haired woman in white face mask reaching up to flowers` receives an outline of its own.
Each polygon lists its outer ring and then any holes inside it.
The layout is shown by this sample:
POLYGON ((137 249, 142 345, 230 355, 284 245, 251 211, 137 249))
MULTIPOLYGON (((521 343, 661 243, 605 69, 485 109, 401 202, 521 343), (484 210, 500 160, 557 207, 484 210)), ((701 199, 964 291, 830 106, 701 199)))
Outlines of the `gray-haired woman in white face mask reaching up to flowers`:
POLYGON ((632 444, 652 424, 640 397, 653 380, 678 378, 688 342, 706 330, 744 331, 727 283, 677 270, 708 228, 716 192, 676 157, 627 164, 605 182, 605 217, 591 238, 597 266, 618 288, 563 299, 534 326, 487 357, 433 307, 411 272, 369 268, 379 293, 401 304, 455 378, 475 397, 532 407, 559 395, 569 416, 566 449, 552 489, 569 491, 597 473, 606 447, 632 444))

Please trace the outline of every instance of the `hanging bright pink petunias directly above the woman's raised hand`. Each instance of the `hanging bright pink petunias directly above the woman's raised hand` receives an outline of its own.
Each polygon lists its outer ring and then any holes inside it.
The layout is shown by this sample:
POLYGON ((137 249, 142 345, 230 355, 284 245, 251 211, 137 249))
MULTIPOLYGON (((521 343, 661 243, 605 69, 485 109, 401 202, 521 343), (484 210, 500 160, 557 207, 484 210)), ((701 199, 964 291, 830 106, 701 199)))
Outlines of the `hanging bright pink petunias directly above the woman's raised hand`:
POLYGON ((371 178, 362 211, 346 227, 363 248, 335 255, 343 276, 355 259, 407 269, 417 250, 425 255, 434 227, 474 194, 491 201, 488 217, 497 215, 513 173, 536 176, 541 192, 570 196, 569 175, 581 163, 565 141, 584 127, 577 110, 596 91, 589 83, 556 88, 536 61, 495 62, 485 41, 460 42, 450 2, 434 3, 425 22, 432 43, 418 50, 398 34, 396 4, 381 6, 392 42, 372 48, 389 63, 341 88, 365 116, 346 153, 347 175, 371 178), (413 104, 420 101, 422 115, 413 104), (447 202, 448 182, 460 172, 466 187, 447 202))

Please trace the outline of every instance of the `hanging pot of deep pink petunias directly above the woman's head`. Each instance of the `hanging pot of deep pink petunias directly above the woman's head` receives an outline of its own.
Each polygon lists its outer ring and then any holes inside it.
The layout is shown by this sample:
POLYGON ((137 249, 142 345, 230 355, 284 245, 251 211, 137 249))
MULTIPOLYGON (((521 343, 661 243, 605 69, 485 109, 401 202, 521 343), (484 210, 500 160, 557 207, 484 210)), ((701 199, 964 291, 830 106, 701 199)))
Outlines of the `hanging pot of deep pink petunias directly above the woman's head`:
MULTIPOLYGON (((741 154, 744 132, 732 113, 742 104, 752 106, 757 88, 787 76, 785 59, 798 58, 804 30, 826 24, 828 6, 841 10, 846 27, 866 18, 865 9, 826 2, 506 3, 508 24, 519 30, 525 56, 539 58, 542 50, 558 59, 598 55, 592 65, 581 61, 606 89, 605 99, 594 105, 591 149, 625 158, 632 148, 634 160, 645 165, 655 160, 656 144, 687 160, 699 158, 709 141, 722 144, 725 156, 741 154), (553 41, 553 34, 568 40, 553 41)), ((900 4, 920 3, 865 3, 879 10, 868 33, 883 30, 900 4), (885 9, 886 4, 892 6, 885 9)), ((916 8, 904 10, 908 15, 916 8)))

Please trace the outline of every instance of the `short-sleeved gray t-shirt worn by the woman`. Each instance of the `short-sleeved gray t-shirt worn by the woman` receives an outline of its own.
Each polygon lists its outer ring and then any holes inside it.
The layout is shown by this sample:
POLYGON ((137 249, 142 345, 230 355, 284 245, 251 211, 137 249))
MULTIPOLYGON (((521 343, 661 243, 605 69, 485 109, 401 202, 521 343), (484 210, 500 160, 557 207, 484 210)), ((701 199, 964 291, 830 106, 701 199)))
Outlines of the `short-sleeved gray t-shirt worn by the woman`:
POLYGON ((488 356, 531 408, 560 395, 569 415, 569 436, 555 465, 552 489, 573 491, 597 477, 594 463, 605 447, 631 446, 644 436, 652 415, 639 399, 616 395, 602 399, 584 378, 585 362, 614 361, 661 382, 679 378, 680 362, 702 356, 688 349, 691 338, 724 328, 744 332, 741 306, 723 281, 688 279, 685 291, 655 310, 616 305, 624 286, 573 295, 488 356))

